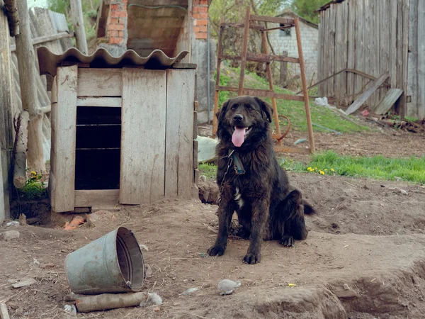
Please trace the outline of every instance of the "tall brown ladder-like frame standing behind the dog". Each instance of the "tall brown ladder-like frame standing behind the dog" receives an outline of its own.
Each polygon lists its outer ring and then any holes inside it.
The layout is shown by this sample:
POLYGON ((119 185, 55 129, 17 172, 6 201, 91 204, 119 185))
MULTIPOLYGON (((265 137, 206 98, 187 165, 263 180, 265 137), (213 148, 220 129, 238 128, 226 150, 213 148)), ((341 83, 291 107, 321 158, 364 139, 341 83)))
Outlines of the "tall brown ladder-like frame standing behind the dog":
POLYGON ((257 16, 251 15, 251 8, 246 9, 246 16, 244 23, 225 23, 224 19, 220 23, 220 35, 218 38, 218 47, 217 47, 217 79, 215 82, 215 99, 214 99, 214 116, 212 119, 212 133, 215 135, 217 133, 217 118, 215 114, 218 111, 218 97, 220 91, 234 91, 237 92, 238 96, 248 95, 248 96, 261 96, 266 98, 271 98, 273 105, 273 118, 276 125, 276 134, 273 134, 273 138, 278 140, 278 145, 275 147, 277 152, 296 152, 296 153, 312 153, 314 149, 314 136, 312 128, 312 119, 310 113, 310 101, 308 98, 307 90, 307 79, 305 78, 305 64, 304 58, 302 56, 302 45, 301 45, 301 35, 300 35, 300 21, 299 18, 288 19, 272 16, 257 16), (261 26, 256 22, 269 22, 269 23, 279 23, 280 27, 278 28, 266 28, 261 26), (271 30, 283 30, 286 28, 295 27, 295 35, 297 38, 297 47, 298 47, 298 57, 285 57, 283 55, 270 55, 268 52, 268 45, 266 41, 266 32, 271 30), (243 28, 244 29, 244 42, 242 43, 242 54, 237 55, 223 55, 222 54, 222 39, 225 28, 243 28), (249 30, 257 30, 261 32, 261 45, 263 46, 264 53, 255 54, 248 52, 248 38, 249 30), (222 60, 234 60, 241 61, 241 72, 239 76, 239 87, 230 87, 230 86, 220 86, 220 67, 222 60), (253 61, 259 63, 266 63, 266 72, 268 77, 268 90, 263 89, 247 89, 244 88, 244 77, 245 77, 245 67, 246 61, 253 61), (298 63, 300 65, 300 75, 302 82, 302 96, 299 95, 290 95, 290 94, 278 94, 274 91, 273 88, 273 74, 271 72, 271 62, 280 61, 280 62, 290 62, 298 63), (308 129, 308 139, 310 142, 310 147, 308 149, 299 148, 299 147, 283 147, 282 146, 282 135, 280 133, 279 125, 279 115, 278 107, 276 104, 276 99, 283 100, 292 100, 292 101, 304 101, 305 104, 305 116, 307 118, 307 129, 308 129))

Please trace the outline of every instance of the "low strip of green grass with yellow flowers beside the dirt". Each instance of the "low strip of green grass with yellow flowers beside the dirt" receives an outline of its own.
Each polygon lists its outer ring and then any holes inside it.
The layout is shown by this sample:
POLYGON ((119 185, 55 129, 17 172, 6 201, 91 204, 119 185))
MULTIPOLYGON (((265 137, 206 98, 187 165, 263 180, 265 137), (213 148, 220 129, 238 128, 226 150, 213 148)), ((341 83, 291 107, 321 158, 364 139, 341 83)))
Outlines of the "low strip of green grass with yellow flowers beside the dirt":
MULTIPOLYGON (((382 157, 381 155, 352 157, 328 151, 312 155, 308 164, 292 159, 280 159, 279 164, 287 171, 293 172, 385 180, 401 179, 402 181, 425 184, 425 157, 399 159, 382 157)), ((208 179, 215 179, 217 169, 215 165, 201 164, 199 169, 201 174, 208 179)))

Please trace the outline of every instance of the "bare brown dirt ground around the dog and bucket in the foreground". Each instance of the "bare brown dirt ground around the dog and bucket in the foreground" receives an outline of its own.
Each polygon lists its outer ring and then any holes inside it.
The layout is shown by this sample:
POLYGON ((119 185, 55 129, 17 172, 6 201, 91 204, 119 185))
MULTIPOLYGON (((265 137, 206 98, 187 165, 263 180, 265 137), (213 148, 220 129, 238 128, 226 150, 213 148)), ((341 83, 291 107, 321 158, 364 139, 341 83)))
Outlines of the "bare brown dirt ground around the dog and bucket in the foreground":
POLYGON ((163 298, 161 310, 123 308, 79 318, 424 318, 425 190, 314 174, 290 179, 319 215, 307 218, 309 237, 294 247, 264 242, 256 265, 242 263, 249 242, 237 238, 229 239, 224 256, 206 255, 217 207, 200 201, 122 207, 94 228, 71 231, 4 226, 0 233, 13 229, 21 237, 0 245, 0 301, 10 298, 11 318, 66 318, 64 258, 122 225, 149 249, 143 254, 153 276, 145 289, 163 298), (12 289, 22 277, 37 283, 12 289), (242 286, 220 296, 217 284, 225 278, 242 286), (344 284, 355 297, 337 297, 344 284), (199 290, 182 295, 193 287, 199 290))

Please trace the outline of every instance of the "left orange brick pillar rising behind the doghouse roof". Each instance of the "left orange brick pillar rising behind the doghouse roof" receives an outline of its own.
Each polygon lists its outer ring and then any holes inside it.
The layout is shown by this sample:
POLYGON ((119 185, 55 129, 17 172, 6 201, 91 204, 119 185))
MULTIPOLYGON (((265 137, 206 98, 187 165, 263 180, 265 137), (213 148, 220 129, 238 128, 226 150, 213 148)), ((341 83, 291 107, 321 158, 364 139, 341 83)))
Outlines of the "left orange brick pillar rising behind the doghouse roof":
POLYGON ((111 45, 127 45, 127 3, 128 0, 111 0, 106 38, 111 45))

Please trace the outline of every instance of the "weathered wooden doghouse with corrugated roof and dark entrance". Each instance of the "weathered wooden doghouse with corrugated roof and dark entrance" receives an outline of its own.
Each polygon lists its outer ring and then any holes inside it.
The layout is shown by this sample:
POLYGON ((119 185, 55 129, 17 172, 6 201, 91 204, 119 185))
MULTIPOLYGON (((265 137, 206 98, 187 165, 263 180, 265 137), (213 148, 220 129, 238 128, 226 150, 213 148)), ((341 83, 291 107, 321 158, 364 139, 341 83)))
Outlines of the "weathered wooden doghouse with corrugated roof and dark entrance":
POLYGON ((198 196, 196 65, 176 65, 183 53, 38 49, 40 72, 53 76, 52 211, 198 196))

